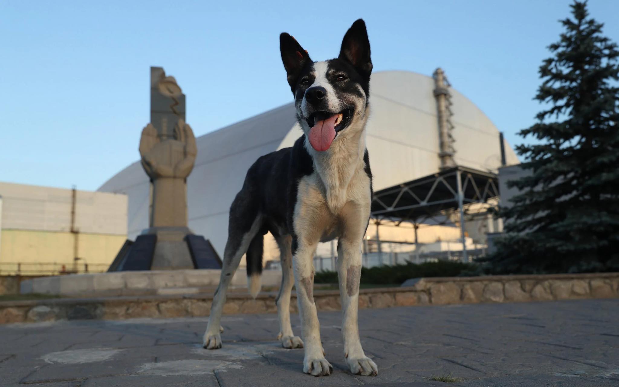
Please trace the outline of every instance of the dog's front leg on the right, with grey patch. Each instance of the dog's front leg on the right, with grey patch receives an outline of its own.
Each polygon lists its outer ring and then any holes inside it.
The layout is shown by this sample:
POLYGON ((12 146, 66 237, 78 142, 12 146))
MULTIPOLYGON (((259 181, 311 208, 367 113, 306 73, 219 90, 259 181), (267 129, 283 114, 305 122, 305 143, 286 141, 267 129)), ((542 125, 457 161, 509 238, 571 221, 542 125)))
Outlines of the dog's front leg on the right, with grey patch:
POLYGON ((337 243, 337 277, 342 300, 344 357, 355 375, 378 375, 378 367, 365 355, 359 339, 357 314, 361 280, 361 244, 369 216, 366 206, 349 203, 342 210, 344 230, 337 243))

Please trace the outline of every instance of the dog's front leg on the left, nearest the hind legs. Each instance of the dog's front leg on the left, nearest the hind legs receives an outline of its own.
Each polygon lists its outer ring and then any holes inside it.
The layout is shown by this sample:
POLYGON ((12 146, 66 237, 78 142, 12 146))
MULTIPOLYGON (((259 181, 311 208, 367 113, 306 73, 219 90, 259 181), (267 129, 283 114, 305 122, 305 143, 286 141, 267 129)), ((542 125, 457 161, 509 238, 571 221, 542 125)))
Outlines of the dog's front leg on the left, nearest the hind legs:
POLYGON ((314 303, 314 252, 318 240, 307 243, 299 238, 297 253, 293 258, 297 302, 301 317, 301 337, 305 346, 303 372, 314 376, 329 375, 332 365, 324 357, 320 341, 320 324, 314 303))

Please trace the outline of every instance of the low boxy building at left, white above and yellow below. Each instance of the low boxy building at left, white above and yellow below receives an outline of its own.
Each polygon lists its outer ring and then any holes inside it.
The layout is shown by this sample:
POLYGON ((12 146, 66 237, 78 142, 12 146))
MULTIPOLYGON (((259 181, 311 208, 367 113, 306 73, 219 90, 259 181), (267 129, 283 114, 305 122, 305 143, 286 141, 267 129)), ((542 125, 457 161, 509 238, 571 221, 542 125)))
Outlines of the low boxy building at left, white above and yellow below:
POLYGON ((127 237, 127 199, 0 183, 0 274, 105 271, 127 237))

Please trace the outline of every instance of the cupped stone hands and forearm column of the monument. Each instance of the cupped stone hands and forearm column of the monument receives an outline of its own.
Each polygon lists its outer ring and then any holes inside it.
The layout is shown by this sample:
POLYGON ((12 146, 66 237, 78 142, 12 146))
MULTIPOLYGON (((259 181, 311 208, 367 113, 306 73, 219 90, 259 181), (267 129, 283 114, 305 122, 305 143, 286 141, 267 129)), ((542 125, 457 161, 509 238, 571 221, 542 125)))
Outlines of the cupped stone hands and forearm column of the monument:
POLYGON ((150 227, 187 227, 186 178, 196 162, 196 138, 183 119, 173 137, 163 137, 152 124, 142 131, 142 167, 153 186, 150 227))

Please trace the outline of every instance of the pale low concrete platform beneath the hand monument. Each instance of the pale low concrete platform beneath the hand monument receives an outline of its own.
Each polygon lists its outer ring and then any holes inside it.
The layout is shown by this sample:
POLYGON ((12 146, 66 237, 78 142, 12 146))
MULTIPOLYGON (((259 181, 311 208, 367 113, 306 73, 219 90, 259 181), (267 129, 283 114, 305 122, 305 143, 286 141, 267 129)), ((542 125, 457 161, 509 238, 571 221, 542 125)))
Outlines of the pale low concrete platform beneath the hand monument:
MULTIPOLYGON (((217 269, 123 271, 68 276, 40 277, 24 280, 22 294, 40 293, 72 297, 101 295, 191 294, 219 285, 221 271, 217 269)), ((263 287, 279 287, 282 271, 262 271, 263 287)), ((247 287, 245 270, 236 271, 231 287, 247 287)))

